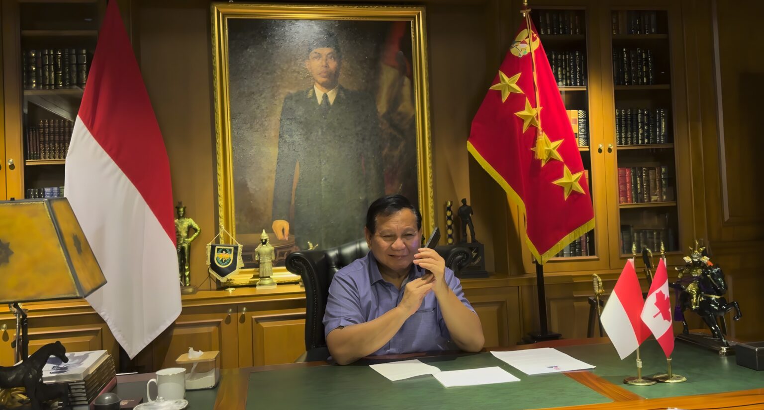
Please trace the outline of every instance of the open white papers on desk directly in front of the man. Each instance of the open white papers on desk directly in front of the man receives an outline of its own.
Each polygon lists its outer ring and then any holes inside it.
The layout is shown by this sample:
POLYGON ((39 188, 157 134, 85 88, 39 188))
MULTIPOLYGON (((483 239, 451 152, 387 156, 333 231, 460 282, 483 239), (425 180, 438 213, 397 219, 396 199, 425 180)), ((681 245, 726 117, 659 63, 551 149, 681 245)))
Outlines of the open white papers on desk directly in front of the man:
POLYGON ((396 381, 408 379, 414 376, 432 374, 444 387, 454 386, 478 386, 481 384, 516 382, 520 379, 507 373, 501 367, 484 367, 481 369, 440 371, 435 366, 423 364, 419 360, 403 360, 393 363, 372 364, 372 369, 377 370, 388 380, 396 381))

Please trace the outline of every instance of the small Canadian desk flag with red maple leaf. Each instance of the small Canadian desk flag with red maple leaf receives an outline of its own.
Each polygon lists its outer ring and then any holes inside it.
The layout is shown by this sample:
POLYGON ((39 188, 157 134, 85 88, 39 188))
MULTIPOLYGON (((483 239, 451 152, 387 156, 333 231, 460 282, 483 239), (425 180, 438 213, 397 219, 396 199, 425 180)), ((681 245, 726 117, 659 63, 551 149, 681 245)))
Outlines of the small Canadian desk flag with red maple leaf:
POLYGON ((665 259, 658 263, 655 277, 652 278, 645 307, 642 309, 642 321, 656 336, 666 357, 670 357, 674 351, 674 329, 669 299, 669 273, 666 271, 665 259))

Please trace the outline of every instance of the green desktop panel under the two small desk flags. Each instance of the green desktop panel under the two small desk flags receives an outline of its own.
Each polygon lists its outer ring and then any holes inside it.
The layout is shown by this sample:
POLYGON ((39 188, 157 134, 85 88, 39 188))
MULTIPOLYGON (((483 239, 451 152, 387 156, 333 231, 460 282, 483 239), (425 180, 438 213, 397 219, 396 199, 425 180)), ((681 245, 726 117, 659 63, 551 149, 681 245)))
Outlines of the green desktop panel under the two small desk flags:
MULTIPOLYGON (((677 341, 672 354, 672 373, 687 377, 683 383, 656 383, 652 386, 623 384, 623 378, 636 376, 636 353, 619 360, 613 344, 588 344, 557 348, 578 360, 597 366, 590 370, 610 383, 623 386, 646 399, 691 396, 759 389, 764 386, 764 372, 738 366, 734 356, 720 357, 713 351, 677 341)), ((665 354, 655 340, 639 348, 642 375, 666 373, 665 354)))

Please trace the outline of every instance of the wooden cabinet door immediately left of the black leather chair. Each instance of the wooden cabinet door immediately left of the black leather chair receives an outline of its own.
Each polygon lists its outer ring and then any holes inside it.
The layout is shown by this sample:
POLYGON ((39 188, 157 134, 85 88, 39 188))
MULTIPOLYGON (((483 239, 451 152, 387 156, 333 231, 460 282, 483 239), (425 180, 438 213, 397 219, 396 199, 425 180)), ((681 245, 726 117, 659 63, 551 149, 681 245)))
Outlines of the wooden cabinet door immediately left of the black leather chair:
POLYGON ((257 311, 252 305, 240 306, 238 315, 239 366, 293 363, 305 352, 305 308, 257 311))

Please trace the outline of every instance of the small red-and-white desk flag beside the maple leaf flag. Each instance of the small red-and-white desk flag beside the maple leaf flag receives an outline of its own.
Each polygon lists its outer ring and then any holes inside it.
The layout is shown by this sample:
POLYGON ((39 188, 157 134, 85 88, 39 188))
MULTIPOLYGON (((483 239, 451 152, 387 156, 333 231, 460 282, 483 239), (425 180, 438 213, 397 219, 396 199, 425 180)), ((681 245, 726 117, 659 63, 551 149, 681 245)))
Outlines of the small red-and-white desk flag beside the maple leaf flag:
POLYGON ((650 329, 639 317, 644 304, 639 278, 634 271, 634 260, 629 259, 613 287, 613 293, 607 298, 600 318, 602 328, 621 359, 636 351, 650 335, 650 329))

